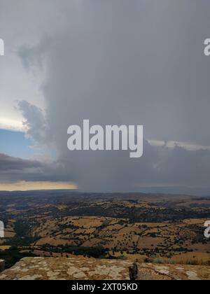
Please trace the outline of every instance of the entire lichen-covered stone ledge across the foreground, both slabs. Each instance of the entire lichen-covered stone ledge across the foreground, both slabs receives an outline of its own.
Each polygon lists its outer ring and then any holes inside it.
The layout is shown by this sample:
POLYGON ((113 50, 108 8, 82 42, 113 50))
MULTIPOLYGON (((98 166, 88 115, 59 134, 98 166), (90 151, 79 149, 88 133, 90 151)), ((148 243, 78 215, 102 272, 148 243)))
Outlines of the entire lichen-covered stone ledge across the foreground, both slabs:
POLYGON ((129 280, 131 274, 137 280, 210 280, 210 267, 151 263, 133 265, 127 260, 83 257, 23 258, 1 272, 0 280, 129 280))

